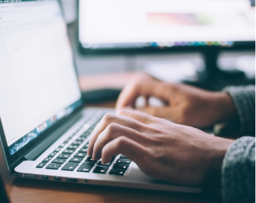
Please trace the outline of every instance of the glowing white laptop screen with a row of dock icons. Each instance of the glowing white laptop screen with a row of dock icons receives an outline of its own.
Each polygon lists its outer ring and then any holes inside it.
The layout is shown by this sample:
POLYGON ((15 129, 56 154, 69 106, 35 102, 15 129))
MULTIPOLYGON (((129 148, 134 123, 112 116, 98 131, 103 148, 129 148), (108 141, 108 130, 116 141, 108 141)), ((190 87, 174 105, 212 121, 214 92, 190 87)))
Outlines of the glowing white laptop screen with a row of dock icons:
POLYGON ((58 1, 0 1, 0 118, 10 155, 81 105, 58 1))

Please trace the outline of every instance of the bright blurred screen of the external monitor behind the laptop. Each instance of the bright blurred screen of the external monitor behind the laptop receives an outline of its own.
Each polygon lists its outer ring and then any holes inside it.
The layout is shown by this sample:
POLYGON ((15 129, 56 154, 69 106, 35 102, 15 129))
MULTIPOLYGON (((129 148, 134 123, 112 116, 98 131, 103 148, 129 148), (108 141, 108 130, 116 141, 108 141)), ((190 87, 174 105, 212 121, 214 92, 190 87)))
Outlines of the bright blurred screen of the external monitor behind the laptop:
POLYGON ((226 47, 255 41, 255 10, 249 0, 79 0, 79 40, 87 49, 226 47))

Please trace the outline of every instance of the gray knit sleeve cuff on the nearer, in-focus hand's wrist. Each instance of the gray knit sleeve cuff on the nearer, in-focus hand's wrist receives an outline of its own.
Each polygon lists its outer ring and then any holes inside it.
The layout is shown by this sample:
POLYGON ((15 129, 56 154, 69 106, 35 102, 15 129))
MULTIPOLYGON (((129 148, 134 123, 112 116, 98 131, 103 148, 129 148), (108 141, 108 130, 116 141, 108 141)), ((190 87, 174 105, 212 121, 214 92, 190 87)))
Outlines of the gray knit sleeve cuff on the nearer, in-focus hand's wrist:
POLYGON ((236 140, 223 161, 223 201, 255 203, 255 138, 236 140))

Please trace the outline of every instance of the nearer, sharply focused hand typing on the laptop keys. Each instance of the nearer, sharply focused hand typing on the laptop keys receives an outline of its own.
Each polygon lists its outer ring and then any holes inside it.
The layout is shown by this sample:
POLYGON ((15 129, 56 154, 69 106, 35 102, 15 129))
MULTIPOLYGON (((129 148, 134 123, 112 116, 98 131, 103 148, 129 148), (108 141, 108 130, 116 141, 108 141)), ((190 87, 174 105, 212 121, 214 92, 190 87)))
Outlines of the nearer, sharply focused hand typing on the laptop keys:
POLYGON ((109 163, 124 154, 151 177, 181 185, 220 185, 222 162, 233 141, 132 109, 106 115, 88 156, 109 163))

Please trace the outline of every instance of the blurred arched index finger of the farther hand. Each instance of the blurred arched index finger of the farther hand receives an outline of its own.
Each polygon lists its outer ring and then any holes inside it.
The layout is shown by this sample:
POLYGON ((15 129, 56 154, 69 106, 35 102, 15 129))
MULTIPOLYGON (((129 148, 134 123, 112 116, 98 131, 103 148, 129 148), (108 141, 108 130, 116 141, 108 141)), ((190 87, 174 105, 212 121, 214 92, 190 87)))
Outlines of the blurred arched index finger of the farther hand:
POLYGON ((165 87, 164 83, 156 80, 150 82, 143 82, 142 80, 139 83, 132 83, 126 86, 120 94, 116 109, 121 109, 122 107, 134 108, 139 96, 144 96, 145 98, 155 96, 156 98, 168 101, 165 87))

